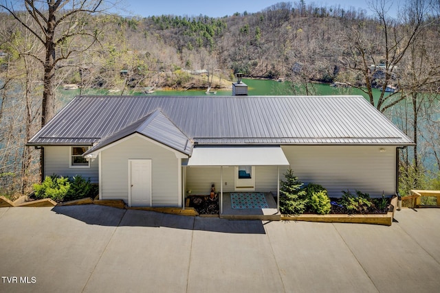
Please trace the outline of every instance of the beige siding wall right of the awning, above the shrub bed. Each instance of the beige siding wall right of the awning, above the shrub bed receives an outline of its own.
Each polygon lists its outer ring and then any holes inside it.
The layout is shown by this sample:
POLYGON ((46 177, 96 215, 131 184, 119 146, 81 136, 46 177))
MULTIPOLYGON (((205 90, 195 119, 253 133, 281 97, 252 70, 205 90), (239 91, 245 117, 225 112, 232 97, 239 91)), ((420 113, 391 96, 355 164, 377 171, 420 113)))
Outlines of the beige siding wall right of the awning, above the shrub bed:
MULTIPOLYGON (((395 194, 396 148, 382 146, 283 146, 294 174, 303 183, 317 183, 329 196, 342 190, 366 192, 370 196, 395 194), (380 152, 380 149, 385 152, 380 152)), ((282 175, 281 178, 284 176, 282 175)))

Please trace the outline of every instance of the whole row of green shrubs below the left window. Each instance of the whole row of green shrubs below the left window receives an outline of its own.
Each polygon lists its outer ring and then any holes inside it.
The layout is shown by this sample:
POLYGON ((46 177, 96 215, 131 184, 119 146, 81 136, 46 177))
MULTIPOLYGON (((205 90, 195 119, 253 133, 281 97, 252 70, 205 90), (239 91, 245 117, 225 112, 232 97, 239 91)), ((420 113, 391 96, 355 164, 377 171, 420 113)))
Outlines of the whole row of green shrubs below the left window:
POLYGON ((56 202, 94 197, 98 194, 98 187, 82 176, 72 179, 63 176, 46 176, 41 184, 34 184, 34 194, 37 200, 51 198, 56 202))

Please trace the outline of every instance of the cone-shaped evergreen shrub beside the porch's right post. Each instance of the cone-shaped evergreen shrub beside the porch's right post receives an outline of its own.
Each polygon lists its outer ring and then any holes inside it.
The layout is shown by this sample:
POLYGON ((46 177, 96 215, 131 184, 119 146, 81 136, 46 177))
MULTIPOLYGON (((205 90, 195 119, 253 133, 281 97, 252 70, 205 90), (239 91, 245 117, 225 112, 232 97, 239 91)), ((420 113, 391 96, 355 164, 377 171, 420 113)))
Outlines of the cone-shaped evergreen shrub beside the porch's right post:
POLYGON ((294 176, 292 169, 288 169, 284 176, 285 180, 281 180, 280 187, 281 213, 293 215, 304 213, 308 200, 302 188, 303 183, 294 176))

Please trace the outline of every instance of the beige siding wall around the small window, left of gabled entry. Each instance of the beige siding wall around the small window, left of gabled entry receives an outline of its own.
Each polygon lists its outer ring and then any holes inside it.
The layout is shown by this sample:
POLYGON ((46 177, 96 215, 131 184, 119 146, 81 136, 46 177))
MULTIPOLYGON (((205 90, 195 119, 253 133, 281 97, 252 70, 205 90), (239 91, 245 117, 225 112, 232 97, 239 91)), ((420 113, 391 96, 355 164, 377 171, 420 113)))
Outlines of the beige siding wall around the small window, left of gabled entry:
POLYGON ((69 146, 44 147, 44 176, 81 175, 84 178, 90 178, 91 183, 98 183, 98 159, 91 161, 90 167, 70 167, 70 148, 69 146))

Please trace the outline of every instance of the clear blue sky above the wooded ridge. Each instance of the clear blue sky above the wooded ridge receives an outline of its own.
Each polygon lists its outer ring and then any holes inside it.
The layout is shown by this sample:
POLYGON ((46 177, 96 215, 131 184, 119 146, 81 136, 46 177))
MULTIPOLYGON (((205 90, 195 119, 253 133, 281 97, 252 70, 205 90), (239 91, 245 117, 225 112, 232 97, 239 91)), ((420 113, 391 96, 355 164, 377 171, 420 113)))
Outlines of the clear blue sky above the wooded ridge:
MULTIPOLYGON (((259 12, 271 5, 274 5, 283 0, 120 0, 120 6, 124 7, 124 10, 117 13, 123 16, 157 16, 162 14, 172 14, 177 16, 198 16, 199 14, 207 15, 210 17, 222 17, 231 16, 235 12, 243 13, 245 11, 249 13, 259 12)), ((300 0, 286 1, 284 2, 299 2, 300 0)), ((314 3, 315 5, 325 6, 337 6, 341 8, 349 9, 362 8, 366 10, 367 14, 371 14, 368 8, 368 0, 305 0, 306 5, 314 3)), ((397 3, 397 0, 395 0, 397 3)), ((394 5, 393 10, 397 8, 394 5)))

